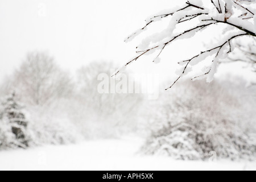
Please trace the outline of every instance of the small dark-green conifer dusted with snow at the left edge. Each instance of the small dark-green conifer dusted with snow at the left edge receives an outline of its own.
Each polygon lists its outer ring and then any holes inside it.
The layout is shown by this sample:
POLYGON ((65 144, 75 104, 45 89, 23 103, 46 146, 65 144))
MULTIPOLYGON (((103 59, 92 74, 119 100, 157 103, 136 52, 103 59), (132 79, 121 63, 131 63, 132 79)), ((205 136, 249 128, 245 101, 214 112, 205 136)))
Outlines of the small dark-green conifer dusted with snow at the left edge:
POLYGON ((14 93, 3 102, 0 119, 3 146, 27 148, 30 140, 27 131, 28 121, 22 111, 22 106, 15 100, 14 93))

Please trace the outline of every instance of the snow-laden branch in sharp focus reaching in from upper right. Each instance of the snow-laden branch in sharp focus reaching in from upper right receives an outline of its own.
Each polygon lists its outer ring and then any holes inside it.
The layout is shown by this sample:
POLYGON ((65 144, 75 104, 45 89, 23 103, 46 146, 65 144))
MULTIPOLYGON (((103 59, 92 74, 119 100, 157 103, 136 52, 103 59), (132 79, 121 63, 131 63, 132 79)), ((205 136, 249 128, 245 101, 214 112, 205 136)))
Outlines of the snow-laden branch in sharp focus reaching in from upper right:
MULTIPOLYGON (((154 62, 159 62, 160 55, 171 43, 179 39, 188 39, 195 36, 197 32, 207 30, 212 26, 218 26, 221 38, 217 43, 211 44, 209 48, 202 49, 187 60, 180 60, 183 67, 174 84, 195 65, 210 57, 209 64, 204 65, 201 75, 193 77, 192 80, 207 78, 207 82, 213 80, 217 71, 218 63, 225 60, 234 49, 233 40, 245 36, 254 38, 256 36, 256 2, 247 0, 191 0, 185 2, 184 6, 165 11, 152 16, 146 20, 146 26, 129 36, 125 41, 133 40, 137 35, 146 31, 153 23, 170 18, 170 23, 162 32, 148 36, 142 40, 137 47, 138 55, 127 62, 124 67, 137 61, 140 57, 155 53, 154 62)), ((209 35, 209 36, 213 36, 209 35)), ((122 69, 122 68, 121 68, 122 69)), ((117 75, 121 69, 114 73, 117 75)), ((172 84, 169 88, 171 88, 172 84)), ((167 89, 169 89, 167 88, 167 89)))

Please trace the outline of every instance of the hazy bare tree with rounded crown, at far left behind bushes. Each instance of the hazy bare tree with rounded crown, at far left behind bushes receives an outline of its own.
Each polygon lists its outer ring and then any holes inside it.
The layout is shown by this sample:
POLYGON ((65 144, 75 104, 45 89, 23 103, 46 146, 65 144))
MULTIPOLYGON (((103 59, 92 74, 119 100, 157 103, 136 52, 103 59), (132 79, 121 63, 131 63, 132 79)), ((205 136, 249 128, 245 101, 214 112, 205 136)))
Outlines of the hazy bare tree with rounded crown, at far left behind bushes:
POLYGON ((68 73, 47 52, 28 53, 9 82, 6 92, 15 90, 22 102, 41 106, 67 97, 73 88, 68 73))

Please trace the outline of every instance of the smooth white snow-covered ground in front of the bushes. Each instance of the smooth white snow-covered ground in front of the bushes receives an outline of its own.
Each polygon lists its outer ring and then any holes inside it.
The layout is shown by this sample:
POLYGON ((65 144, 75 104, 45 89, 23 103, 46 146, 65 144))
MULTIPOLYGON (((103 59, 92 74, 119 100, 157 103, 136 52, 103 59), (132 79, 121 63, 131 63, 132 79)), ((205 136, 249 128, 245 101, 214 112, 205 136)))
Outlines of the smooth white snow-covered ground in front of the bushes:
POLYGON ((138 154, 138 138, 0 152, 2 170, 256 170, 256 162, 188 162, 138 154))

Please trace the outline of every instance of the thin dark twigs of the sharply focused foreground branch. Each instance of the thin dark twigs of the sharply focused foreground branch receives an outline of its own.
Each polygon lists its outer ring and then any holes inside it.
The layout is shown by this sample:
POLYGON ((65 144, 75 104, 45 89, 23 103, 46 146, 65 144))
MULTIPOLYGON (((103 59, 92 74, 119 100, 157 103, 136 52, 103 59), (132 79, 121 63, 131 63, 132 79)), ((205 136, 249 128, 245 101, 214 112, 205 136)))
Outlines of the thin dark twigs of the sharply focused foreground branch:
MULTIPOLYGON (((252 38, 256 38, 256 34, 255 32, 253 31, 250 31, 248 30, 246 27, 243 27, 242 25, 238 25, 238 23, 230 23, 229 22, 229 16, 228 16, 228 13, 229 13, 229 9, 228 9, 228 6, 227 6, 227 3, 225 1, 222 1, 220 2, 220 0, 210 0, 210 2, 213 4, 213 6, 216 8, 216 10, 218 11, 219 14, 223 14, 224 16, 224 20, 216 20, 216 19, 213 19, 213 17, 209 17, 209 18, 206 18, 206 19, 203 19, 202 22, 198 25, 198 26, 195 26, 193 28, 190 28, 190 29, 185 29, 183 32, 179 33, 179 34, 176 34, 176 35, 173 35, 171 39, 169 39, 167 42, 164 41, 164 43, 160 43, 160 41, 158 42, 158 44, 156 44, 156 46, 154 47, 150 47, 150 48, 147 48, 145 50, 140 50, 140 51, 137 51, 137 53, 139 53, 139 55, 137 57, 135 57, 133 60, 130 60, 129 62, 127 62, 124 67, 126 67, 127 65, 133 63, 133 61, 137 61, 140 57, 142 57, 143 55, 145 55, 146 53, 152 51, 152 50, 159 50, 157 56, 156 56, 156 59, 162 54, 162 52, 164 51, 164 49, 168 46, 168 44, 174 42, 174 40, 178 39, 179 37, 185 35, 185 34, 188 34, 189 32, 198 32, 200 30, 203 30, 204 28, 207 28, 209 27, 210 25, 212 24, 219 24, 219 23, 225 23, 229 26, 232 26, 234 27, 233 29, 237 29, 237 30, 241 30, 243 31, 242 34, 238 33, 237 35, 234 35, 232 36, 231 38, 229 39, 226 39, 224 40, 224 43, 222 44, 219 44, 218 46, 216 47, 213 47, 211 49, 208 49, 207 51, 203 51, 203 52, 200 52, 198 55, 196 56, 193 56, 191 59, 188 59, 188 60, 185 60, 185 61, 181 61, 180 63, 186 63, 185 64, 185 67, 183 68, 183 72, 181 73, 181 75, 179 75, 179 77, 177 77, 177 79, 174 81, 174 83, 167 89, 170 89, 172 88, 172 86, 174 86, 176 84, 177 81, 180 80, 180 78, 185 74, 185 72, 187 71, 187 68, 189 67, 189 64, 191 64, 193 60, 195 60, 197 57, 198 58, 201 58, 199 56, 201 55, 204 55, 204 56, 207 56, 206 53, 208 52, 210 55, 214 55, 214 59, 213 59, 213 62, 214 61, 217 61, 218 59, 216 58, 219 58, 220 57, 220 53, 226 53, 226 54, 229 54, 230 52, 232 52, 232 40, 233 39, 236 39, 240 36, 251 36, 252 38), (222 3, 225 3, 225 4, 222 4, 222 3), (225 5, 225 6, 224 6, 225 5), (225 12, 225 15, 224 15, 224 12, 225 12), (205 23, 204 23, 205 22, 205 23), (208 22, 208 23, 207 23, 208 22), (228 51, 226 50, 223 50, 224 46, 228 46, 228 51), (222 51, 222 52, 221 52, 222 51), (225 52, 224 52, 225 51, 225 52), (216 55, 215 55, 216 54, 216 55)), ((246 10, 246 13, 243 13, 241 16, 238 16, 238 18, 240 18, 241 20, 247 20, 247 19, 251 19, 253 18, 252 15, 254 15, 254 13, 252 11, 250 11, 247 7, 245 7, 244 5, 241 5, 241 2, 255 2, 255 1, 251 1, 251 0, 240 0, 240 1, 235 1, 233 0, 233 3, 235 3, 236 5, 242 7, 242 9, 246 10), (248 16, 248 14, 251 14, 250 16, 248 16)), ((235 6, 236 6, 235 5, 235 6)), ((168 13, 168 14, 162 14, 162 15, 157 15, 157 16, 154 16, 152 17, 151 19, 149 19, 149 21, 147 22, 146 26, 144 26, 143 28, 141 28, 141 30, 139 31, 143 31, 147 26, 149 26, 151 23, 155 22, 156 20, 158 20, 158 18, 166 18, 168 16, 172 16, 174 15, 175 13, 179 12, 179 11, 183 11, 185 9, 188 9, 189 7, 191 8, 196 8, 196 9, 199 9, 199 10, 205 10, 204 7, 200 7, 200 6, 197 6, 195 4, 192 4, 190 3, 189 1, 186 2, 186 5, 175 11, 175 12, 172 12, 172 13, 168 13)), ((183 22, 187 22, 189 20, 192 20, 192 19, 195 19, 195 18, 199 18, 199 16, 201 15, 208 15, 209 16, 209 13, 205 12, 205 11, 199 11, 197 12, 197 14, 187 14, 185 15, 183 18, 180 18, 180 19, 175 19, 177 22, 176 24, 178 23, 183 23, 183 22)), ((234 14, 233 14, 234 15, 234 14)), ((206 16, 207 17, 207 16, 206 16)), ((138 32, 139 32, 138 31, 138 32)), ((133 35, 131 36, 134 36, 136 34, 138 34, 138 32, 135 32, 133 35)), ((129 36, 128 39, 131 38, 131 36, 129 36)), ((137 47, 138 48, 138 47, 137 47)), ((155 60, 154 60, 155 61, 155 60)), ((153 61, 153 62, 154 62, 153 61)), ((179 64, 180 64, 179 63, 179 64)), ((251 61, 251 63, 254 63, 255 65, 255 62, 254 61, 251 61)), ((192 65, 192 64, 191 64, 192 65)), ((205 75, 208 75, 211 71, 213 70, 213 66, 211 68, 209 68, 209 71, 204 73, 204 75, 201 75, 201 76, 205 76, 205 75)), ((117 75, 119 71, 117 71, 114 75, 117 75)), ((201 76, 197 76, 197 77, 194 77, 192 78, 195 79, 195 78, 198 78, 198 77, 201 77, 201 76)), ((166 90, 167 90, 166 89, 166 90)))

